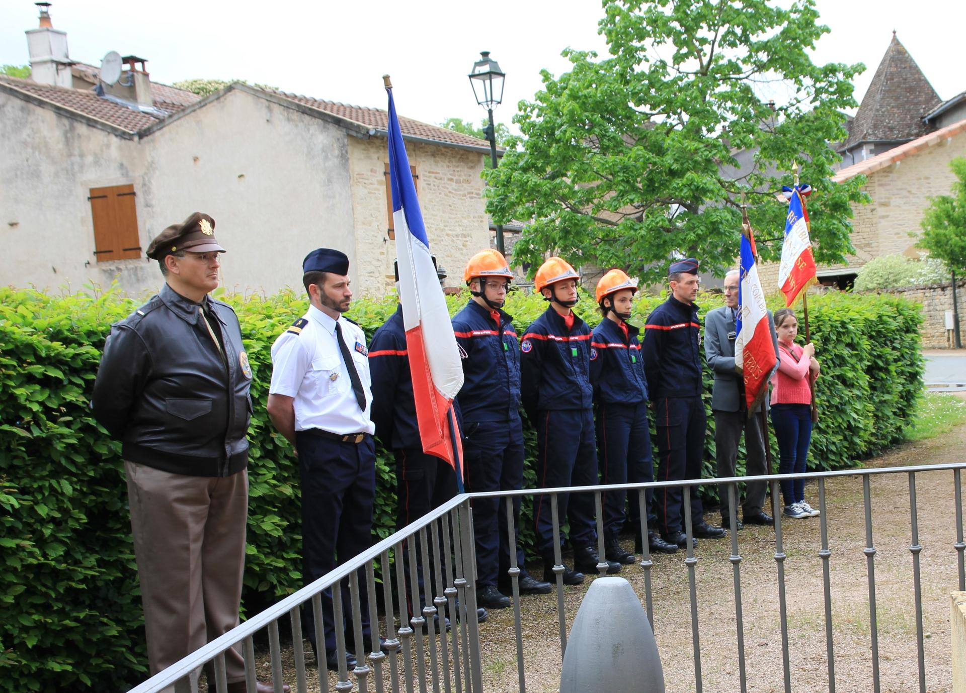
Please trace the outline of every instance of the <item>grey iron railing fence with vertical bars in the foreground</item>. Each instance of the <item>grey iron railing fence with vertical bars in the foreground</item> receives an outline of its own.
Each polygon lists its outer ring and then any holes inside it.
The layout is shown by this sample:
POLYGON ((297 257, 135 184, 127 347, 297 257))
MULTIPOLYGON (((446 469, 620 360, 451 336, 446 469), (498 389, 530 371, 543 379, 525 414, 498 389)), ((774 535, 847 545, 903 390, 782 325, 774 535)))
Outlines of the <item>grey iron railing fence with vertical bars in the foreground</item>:
MULTIPOLYGON (((255 691, 256 681, 256 659, 254 638, 263 629, 268 631, 269 658, 271 679, 275 693, 282 692, 282 680, 284 676, 291 678, 292 672, 282 671, 281 645, 279 637, 279 622, 288 620, 292 633, 292 648, 295 660, 295 686, 294 690, 298 693, 306 693, 306 657, 303 648, 301 621, 299 618, 299 608, 306 602, 311 602, 314 610, 315 623, 318 630, 322 632, 322 592, 328 588, 331 591, 333 600, 334 620, 341 623, 344 614, 344 604, 342 603, 341 589, 345 581, 349 581, 349 592, 352 606, 353 632, 355 642, 347 644, 345 634, 341 628, 336 627, 336 649, 339 666, 337 670, 337 682, 334 685, 336 691, 350 691, 357 689, 360 691, 375 690, 377 693, 384 693, 386 687, 392 693, 427 693, 432 689, 433 693, 482 693, 482 668, 481 660, 479 624, 476 618, 476 595, 475 595, 475 556, 473 550, 472 533, 472 512, 470 503, 476 497, 512 497, 528 496, 535 494, 549 495, 551 498, 551 513, 554 528, 554 573, 556 575, 556 617, 559 637, 559 653, 562 659, 567 647, 567 613, 565 608, 564 587, 562 573, 563 557, 560 548, 560 521, 557 510, 557 496, 560 493, 593 493, 597 510, 597 534, 598 534, 598 553, 605 555, 604 528, 602 519, 602 496, 601 494, 612 490, 637 491, 639 503, 640 532, 644 541, 641 541, 642 559, 639 561, 639 568, 643 571, 644 583, 644 605, 647 618, 654 627, 654 595, 652 591, 652 574, 654 563, 651 560, 648 542, 647 512, 645 508, 645 490, 658 489, 666 486, 681 486, 683 489, 682 508, 684 509, 685 532, 688 537, 686 542, 686 557, 684 564, 688 571, 688 585, 690 598, 691 614, 691 634, 692 646, 694 651, 694 673, 695 683, 693 689, 697 693, 703 690, 703 678, 701 672, 701 648, 698 628, 698 601, 697 601, 697 581, 696 564, 692 538, 694 537, 692 526, 692 514, 690 506, 690 494, 694 492, 696 486, 701 485, 725 485, 725 492, 728 494, 728 508, 730 513, 730 527, 728 534, 730 537, 731 554, 728 558, 732 566, 733 596, 735 608, 735 627, 736 645, 738 653, 739 680, 742 693, 747 693, 748 679, 746 671, 746 651, 744 618, 742 612, 742 593, 741 593, 741 563, 742 555, 739 552, 737 517, 736 517, 736 498, 735 484, 742 484, 753 479, 764 479, 770 485, 772 511, 775 517, 775 554, 779 615, 781 625, 781 664, 782 664, 782 683, 786 693, 791 692, 791 672, 789 663, 789 640, 788 640, 788 613, 785 596, 785 575, 784 562, 786 555, 781 536, 781 502, 779 483, 783 480, 806 479, 817 481, 818 504, 820 511, 820 547, 818 556, 822 564, 822 583, 824 590, 824 621, 825 621, 825 645, 827 654, 827 681, 826 685, 830 693, 836 691, 836 652, 834 648, 833 633, 833 608, 832 608, 832 581, 830 579, 829 562, 832 557, 832 549, 829 545, 829 519, 826 503, 826 480, 837 477, 860 477, 862 479, 862 497, 865 514, 866 541, 862 552, 866 557, 867 564, 867 596, 869 610, 869 642, 868 646, 871 654, 871 669, 868 672, 870 688, 879 693, 881 685, 879 680, 879 643, 878 643, 878 623, 876 607, 876 588, 875 588, 875 556, 877 549, 872 537, 872 503, 871 503, 871 479, 878 475, 900 475, 908 476, 908 493, 910 508, 910 544, 908 550, 912 557, 912 584, 915 597, 915 624, 917 642, 917 663, 918 663, 918 690, 921 693, 926 691, 925 679, 925 656, 923 651, 923 593, 921 585, 920 553, 923 546, 919 539, 919 521, 917 510, 916 479, 924 473, 931 472, 952 472, 954 489, 954 516, 955 541, 952 541, 952 551, 956 556, 958 568, 958 590, 966 591, 966 569, 964 569, 964 549, 966 541, 963 540, 963 514, 962 514, 962 485, 961 472, 966 469, 966 463, 956 464, 935 464, 920 465, 894 468, 874 468, 874 469, 848 469, 833 472, 812 472, 802 475, 771 475, 767 477, 738 477, 726 479, 701 479, 690 480, 688 482, 654 482, 649 484, 624 484, 624 485, 597 485, 582 486, 573 488, 540 488, 525 489, 520 491, 499 491, 492 493, 472 493, 458 495, 445 504, 440 506, 432 513, 428 513, 413 522, 408 527, 396 532, 392 536, 380 541, 371 548, 362 551, 358 556, 347 564, 332 570, 327 575, 319 578, 310 585, 305 586, 297 593, 288 596, 269 609, 248 619, 228 633, 213 640, 205 647, 192 652, 181 661, 158 673, 155 677, 146 680, 129 693, 158 693, 170 690, 173 687, 175 693, 196 693, 198 690, 198 680, 203 667, 209 668, 209 691, 225 693, 227 684, 225 680, 224 652, 229 648, 241 646, 241 652, 245 662, 245 676, 247 689, 251 693, 255 691), (405 542, 416 539, 416 549, 403 551, 405 542), (394 560, 389 561, 391 555, 394 560), (420 603, 420 586, 418 580, 416 553, 420 554, 421 565, 426 567, 424 589, 428 592, 423 600, 425 606, 421 611, 416 610, 412 617, 409 616, 411 604, 420 603), (432 553, 431 553, 432 552, 432 553), (432 559, 432 560, 431 560, 432 559), (376 562, 380 562, 384 569, 384 579, 382 580, 381 591, 383 597, 384 621, 381 622, 380 611, 378 609, 378 593, 376 582, 376 562), (388 568, 389 566, 392 568, 388 568), (359 572, 364 571, 364 578, 368 589, 366 592, 366 604, 370 623, 372 627, 372 642, 379 642, 377 639, 377 629, 379 634, 384 636, 383 651, 370 651, 365 656, 358 656, 358 662, 352 675, 355 682, 350 679, 350 672, 346 666, 346 651, 352 645, 356 653, 363 652, 362 627, 360 622, 360 585, 359 572), (394 580, 390 578, 390 573, 394 580), (407 579, 408 577, 408 579, 407 579), (393 586, 393 582, 395 585, 393 586), (394 594, 395 593, 395 594, 394 594), (395 625, 394 617, 398 619, 398 628, 395 625), (440 618, 445 616, 444 618, 440 618), (436 618, 435 618, 436 617, 436 618), (452 630, 449 631, 445 620, 449 619, 452 630), (439 626, 437 625, 439 623, 439 626), (422 630, 425 629, 425 637, 422 630), (371 680, 370 680, 371 679, 371 680)), ((631 494, 629 493, 629 496, 631 494)), ((512 503, 505 503, 507 514, 507 532, 511 544, 514 543, 516 529, 512 512, 512 503)), ((952 534, 952 532, 951 532, 952 534)), ((412 544, 411 544, 412 545, 412 544)), ((952 558, 952 553, 950 554, 952 558)), ((603 560, 603 559, 602 559, 603 560)), ((516 660, 517 660, 517 684, 521 693, 526 691, 526 648, 523 634, 523 616, 521 612, 521 596, 519 590, 519 576, 521 569, 517 566, 516 553, 510 551, 511 567, 509 576, 512 584, 513 602, 513 625, 516 640, 516 660)), ((606 574, 607 564, 598 564, 601 575, 606 574)), ((955 586, 950 585, 952 590, 955 586)), ((660 625, 660 624, 658 624, 660 625)), ((657 628, 655 628, 657 630, 657 628)), ((319 646, 319 688, 320 691, 328 689, 328 678, 326 672, 325 646, 320 639, 319 646)), ((375 647, 374 647, 375 649, 375 647)), ((810 688, 815 687, 816 681, 810 680, 810 688)))

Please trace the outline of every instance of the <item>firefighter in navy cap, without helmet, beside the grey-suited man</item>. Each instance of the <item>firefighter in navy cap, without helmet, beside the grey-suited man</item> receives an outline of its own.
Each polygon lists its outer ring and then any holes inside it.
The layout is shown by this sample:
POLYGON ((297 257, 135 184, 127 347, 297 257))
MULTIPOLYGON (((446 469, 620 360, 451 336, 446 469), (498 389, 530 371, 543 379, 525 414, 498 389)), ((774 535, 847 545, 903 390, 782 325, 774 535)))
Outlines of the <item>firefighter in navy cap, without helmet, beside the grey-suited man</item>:
MULTIPOLYGON (((659 482, 699 479, 707 418, 701 402, 701 323, 697 317, 698 262, 688 258, 671 263, 670 295, 655 308, 644 325, 644 374, 654 403, 658 443, 659 482)), ((655 493, 661 537, 687 546, 681 486, 662 487, 655 493)), ((704 521, 697 487, 691 489, 691 519, 695 537, 718 539, 721 527, 704 521)), ((693 539, 696 543, 696 541, 693 539)))

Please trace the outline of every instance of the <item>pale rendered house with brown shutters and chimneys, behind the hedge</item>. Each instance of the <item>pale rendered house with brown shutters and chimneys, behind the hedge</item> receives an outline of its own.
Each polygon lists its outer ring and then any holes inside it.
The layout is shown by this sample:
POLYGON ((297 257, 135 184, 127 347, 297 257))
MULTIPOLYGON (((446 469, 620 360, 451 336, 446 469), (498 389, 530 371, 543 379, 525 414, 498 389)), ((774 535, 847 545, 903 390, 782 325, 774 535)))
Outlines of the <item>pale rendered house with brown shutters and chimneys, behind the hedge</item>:
MULTIPOLYGON (((156 291, 143 249, 201 210, 229 251, 229 290, 300 291, 301 260, 319 246, 349 255, 357 291, 392 287, 384 110, 241 83, 201 98, 152 82, 136 56, 101 79, 71 60, 44 9, 27 38, 31 78, 0 76, 0 284, 156 291)), ((489 245, 489 144, 400 125, 433 251, 459 284, 454 270, 489 245)))

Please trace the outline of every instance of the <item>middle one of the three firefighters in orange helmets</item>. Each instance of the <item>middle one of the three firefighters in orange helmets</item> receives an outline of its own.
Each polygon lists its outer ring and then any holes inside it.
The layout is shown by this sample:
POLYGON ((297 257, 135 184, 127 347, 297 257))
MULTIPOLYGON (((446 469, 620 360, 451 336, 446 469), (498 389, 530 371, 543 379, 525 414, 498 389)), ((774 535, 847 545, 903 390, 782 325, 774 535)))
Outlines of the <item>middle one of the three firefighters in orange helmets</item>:
MULTIPOLYGON (((550 302, 542 316, 526 328, 520 344, 521 396, 526 415, 537 429, 537 485, 589 486, 597 484, 594 450, 593 388, 590 385, 590 328, 573 310, 577 305, 574 268, 561 258, 550 258, 536 273, 536 290, 550 302)), ((587 493, 557 498, 559 520, 570 520, 574 568, 564 565, 563 582, 579 585, 584 571, 597 571, 597 530, 594 498, 587 493)), ((533 499, 536 544, 544 560, 544 579, 555 580, 554 524, 551 498, 533 499)), ((563 532, 560 532, 563 541, 563 532)), ((620 564, 608 561, 609 573, 620 564)))

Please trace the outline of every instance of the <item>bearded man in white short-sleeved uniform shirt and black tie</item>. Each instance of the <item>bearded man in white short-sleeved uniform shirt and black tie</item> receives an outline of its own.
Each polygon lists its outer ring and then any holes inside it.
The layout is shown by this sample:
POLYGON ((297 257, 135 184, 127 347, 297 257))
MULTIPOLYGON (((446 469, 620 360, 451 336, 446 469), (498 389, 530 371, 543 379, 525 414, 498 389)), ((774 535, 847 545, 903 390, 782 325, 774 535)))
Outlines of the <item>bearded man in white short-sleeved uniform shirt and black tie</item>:
MULTIPOLYGON (((342 316, 349 310, 349 258, 319 248, 302 262, 308 312, 271 347, 269 416, 298 452, 302 506, 302 580, 313 582, 371 545, 376 498, 376 449, 369 419, 372 403, 365 334, 342 316)), ((349 580, 342 585, 345 620, 352 628, 349 580)), ((362 638, 372 647, 369 613, 362 590, 362 638)), ((338 666, 331 590, 322 596, 326 661, 338 666)), ((311 602, 302 610, 305 631, 317 656, 311 602)), ((352 642, 351 639, 348 642, 352 642)), ((321 661, 321 657, 319 657, 321 661)), ((347 666, 355 656, 347 655, 347 666)))

